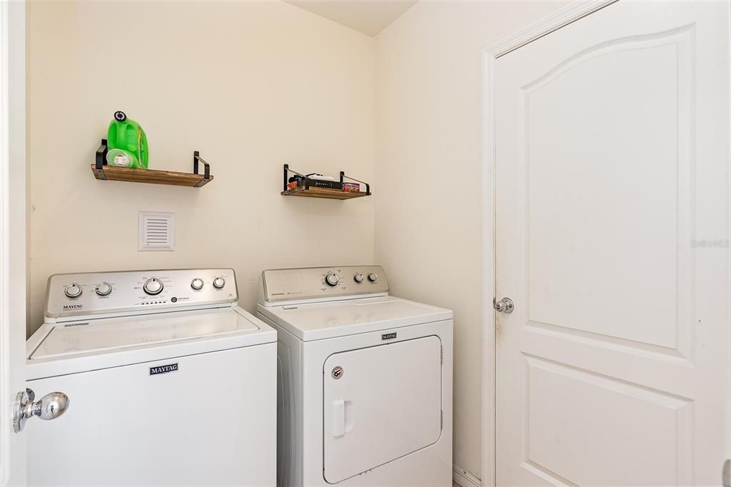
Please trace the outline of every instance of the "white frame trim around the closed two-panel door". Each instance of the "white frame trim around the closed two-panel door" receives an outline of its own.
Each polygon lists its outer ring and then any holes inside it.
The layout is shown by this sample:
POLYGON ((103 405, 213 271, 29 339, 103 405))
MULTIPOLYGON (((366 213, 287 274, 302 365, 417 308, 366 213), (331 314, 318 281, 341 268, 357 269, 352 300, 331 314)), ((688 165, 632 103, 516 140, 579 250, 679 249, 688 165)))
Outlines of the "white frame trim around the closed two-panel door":
POLYGON ((495 61, 619 0, 577 0, 482 50, 482 486, 495 485, 495 61))

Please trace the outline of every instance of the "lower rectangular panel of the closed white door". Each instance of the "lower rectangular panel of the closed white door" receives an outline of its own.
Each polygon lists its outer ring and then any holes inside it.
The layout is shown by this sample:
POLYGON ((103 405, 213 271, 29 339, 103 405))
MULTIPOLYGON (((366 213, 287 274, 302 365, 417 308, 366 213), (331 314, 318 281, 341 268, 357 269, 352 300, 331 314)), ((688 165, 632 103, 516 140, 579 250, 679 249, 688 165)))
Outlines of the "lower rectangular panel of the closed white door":
POLYGON ((689 399, 528 355, 524 370, 531 467, 580 486, 673 485, 669 465, 692 467, 689 399))

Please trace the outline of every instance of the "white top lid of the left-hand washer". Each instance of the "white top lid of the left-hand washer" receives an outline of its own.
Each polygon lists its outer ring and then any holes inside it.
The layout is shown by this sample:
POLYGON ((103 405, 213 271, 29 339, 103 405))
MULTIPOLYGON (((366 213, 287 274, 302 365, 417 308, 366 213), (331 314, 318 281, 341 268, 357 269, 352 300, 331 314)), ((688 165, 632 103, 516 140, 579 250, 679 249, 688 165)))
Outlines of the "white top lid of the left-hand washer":
POLYGON ((53 327, 29 359, 113 352, 259 330, 254 322, 231 308, 70 322, 53 327))

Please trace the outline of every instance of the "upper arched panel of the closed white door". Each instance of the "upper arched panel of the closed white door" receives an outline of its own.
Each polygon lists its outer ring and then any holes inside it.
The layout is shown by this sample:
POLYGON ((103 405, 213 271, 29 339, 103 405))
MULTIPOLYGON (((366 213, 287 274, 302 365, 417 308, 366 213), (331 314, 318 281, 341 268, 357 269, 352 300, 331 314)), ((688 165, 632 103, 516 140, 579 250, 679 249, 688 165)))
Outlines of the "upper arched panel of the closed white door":
POLYGON ((522 88, 531 322, 688 353, 691 44, 622 39, 522 88))

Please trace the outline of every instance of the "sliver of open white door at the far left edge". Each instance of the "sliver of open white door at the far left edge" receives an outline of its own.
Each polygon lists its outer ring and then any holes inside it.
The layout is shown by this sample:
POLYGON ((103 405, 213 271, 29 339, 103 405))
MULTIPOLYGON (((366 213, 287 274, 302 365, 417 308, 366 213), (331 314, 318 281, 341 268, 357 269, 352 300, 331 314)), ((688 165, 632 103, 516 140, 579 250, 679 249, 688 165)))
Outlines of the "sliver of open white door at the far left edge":
POLYGON ((12 403, 26 385, 26 78, 24 1, 0 2, 0 486, 26 483, 12 403))

